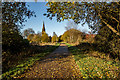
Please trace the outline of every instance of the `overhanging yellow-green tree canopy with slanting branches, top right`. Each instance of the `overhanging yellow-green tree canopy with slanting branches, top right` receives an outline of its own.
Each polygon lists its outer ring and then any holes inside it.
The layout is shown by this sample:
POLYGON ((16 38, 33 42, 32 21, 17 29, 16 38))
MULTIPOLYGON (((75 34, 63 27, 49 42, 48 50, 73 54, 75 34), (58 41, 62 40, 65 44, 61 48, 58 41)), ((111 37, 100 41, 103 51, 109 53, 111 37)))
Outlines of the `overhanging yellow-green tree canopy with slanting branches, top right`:
POLYGON ((119 11, 120 2, 48 2, 47 13, 44 15, 58 22, 72 19, 76 23, 87 23, 93 32, 97 31, 103 22, 116 35, 120 36, 119 11), (107 20, 111 20, 108 22, 107 20), (116 26, 111 23, 116 22, 116 26))

